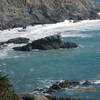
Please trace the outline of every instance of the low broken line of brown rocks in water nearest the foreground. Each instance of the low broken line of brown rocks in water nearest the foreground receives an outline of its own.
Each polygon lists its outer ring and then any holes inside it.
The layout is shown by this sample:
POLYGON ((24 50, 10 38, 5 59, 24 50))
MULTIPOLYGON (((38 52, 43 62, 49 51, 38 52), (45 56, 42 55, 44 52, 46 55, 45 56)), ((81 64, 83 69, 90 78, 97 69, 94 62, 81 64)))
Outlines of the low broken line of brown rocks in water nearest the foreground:
MULTIPOLYGON (((74 88, 76 86, 90 86, 90 85, 94 85, 94 83, 90 82, 90 81, 85 81, 83 83, 78 82, 78 81, 57 81, 54 84, 52 84, 49 88, 44 88, 44 89, 35 89, 34 93, 42 93, 42 94, 52 94, 54 92, 57 92, 59 90, 65 89, 65 88, 74 88)), ((75 88, 75 91, 80 91, 81 88, 75 88)))

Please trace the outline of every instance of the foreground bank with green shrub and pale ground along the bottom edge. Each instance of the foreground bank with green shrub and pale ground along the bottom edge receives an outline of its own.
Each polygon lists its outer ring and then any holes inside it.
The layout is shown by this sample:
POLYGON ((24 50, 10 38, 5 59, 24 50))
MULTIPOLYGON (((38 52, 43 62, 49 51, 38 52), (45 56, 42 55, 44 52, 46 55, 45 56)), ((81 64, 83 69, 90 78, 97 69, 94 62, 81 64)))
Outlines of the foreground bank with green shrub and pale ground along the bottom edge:
POLYGON ((71 98, 56 98, 36 94, 16 94, 7 76, 0 73, 0 100, 80 100, 71 98))

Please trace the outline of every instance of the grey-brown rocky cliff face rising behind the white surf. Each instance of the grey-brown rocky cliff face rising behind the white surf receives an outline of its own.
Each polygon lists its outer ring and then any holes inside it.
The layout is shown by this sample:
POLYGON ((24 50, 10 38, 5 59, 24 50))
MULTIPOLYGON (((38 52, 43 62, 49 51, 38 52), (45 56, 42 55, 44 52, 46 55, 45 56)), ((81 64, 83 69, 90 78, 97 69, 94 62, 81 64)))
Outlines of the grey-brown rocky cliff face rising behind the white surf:
POLYGON ((0 0, 0 29, 65 19, 96 19, 97 11, 91 0, 0 0))

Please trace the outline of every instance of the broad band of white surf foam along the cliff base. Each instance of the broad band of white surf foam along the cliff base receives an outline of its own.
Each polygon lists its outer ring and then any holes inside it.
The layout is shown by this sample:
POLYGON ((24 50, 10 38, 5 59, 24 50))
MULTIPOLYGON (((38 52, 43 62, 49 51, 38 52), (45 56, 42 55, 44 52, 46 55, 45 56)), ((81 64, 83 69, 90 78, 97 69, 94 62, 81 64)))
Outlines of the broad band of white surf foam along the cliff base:
MULTIPOLYGON (((28 26, 26 30, 22 28, 14 28, 10 30, 0 31, 0 42, 17 37, 30 38, 31 41, 44 38, 53 34, 61 33, 63 37, 91 37, 91 34, 80 33, 80 31, 100 29, 100 20, 84 20, 77 23, 65 20, 56 24, 45 24, 28 26)), ((9 50, 15 45, 9 45, 7 48, 0 50, 0 59, 9 58, 9 50)))

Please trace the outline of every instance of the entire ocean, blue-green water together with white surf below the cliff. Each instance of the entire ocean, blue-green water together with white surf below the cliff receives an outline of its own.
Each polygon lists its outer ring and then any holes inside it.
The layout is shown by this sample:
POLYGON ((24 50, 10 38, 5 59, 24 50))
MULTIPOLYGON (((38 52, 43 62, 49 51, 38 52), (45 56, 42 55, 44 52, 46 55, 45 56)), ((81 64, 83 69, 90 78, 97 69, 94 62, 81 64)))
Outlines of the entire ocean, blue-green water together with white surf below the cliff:
MULTIPOLYGON (((61 33, 64 41, 75 42, 76 49, 18 52, 14 44, 0 50, 0 72, 11 79, 17 93, 33 93, 36 88, 49 87, 53 82, 74 80, 94 81, 96 91, 65 89, 54 96, 100 100, 100 20, 77 23, 64 21, 56 24, 29 26, 0 31, 0 41, 28 37, 30 42, 61 33)), ((89 88, 89 87, 84 87, 89 88)))

